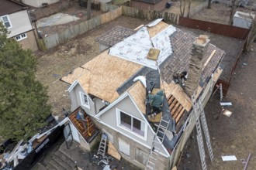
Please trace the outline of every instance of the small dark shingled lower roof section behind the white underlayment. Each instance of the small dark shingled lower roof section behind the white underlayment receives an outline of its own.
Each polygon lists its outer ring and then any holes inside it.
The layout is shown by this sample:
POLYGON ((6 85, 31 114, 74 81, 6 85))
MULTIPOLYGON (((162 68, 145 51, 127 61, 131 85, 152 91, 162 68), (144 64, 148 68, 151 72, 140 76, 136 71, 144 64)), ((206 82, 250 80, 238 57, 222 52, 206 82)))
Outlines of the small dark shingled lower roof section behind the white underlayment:
POLYGON ((133 29, 127 29, 123 26, 115 26, 95 40, 106 46, 113 46, 117 42, 123 41, 126 37, 133 35, 134 32, 135 31, 133 29))

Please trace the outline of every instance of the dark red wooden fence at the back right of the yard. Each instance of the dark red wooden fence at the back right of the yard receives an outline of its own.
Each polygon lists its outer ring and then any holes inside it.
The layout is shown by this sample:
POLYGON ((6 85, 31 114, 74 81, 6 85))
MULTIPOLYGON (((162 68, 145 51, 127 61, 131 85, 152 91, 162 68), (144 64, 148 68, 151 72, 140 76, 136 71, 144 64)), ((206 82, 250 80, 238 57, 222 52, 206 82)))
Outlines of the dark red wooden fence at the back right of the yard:
POLYGON ((214 22, 206 22, 197 19, 188 19, 185 17, 180 17, 178 25, 243 40, 247 38, 249 33, 249 29, 214 22))

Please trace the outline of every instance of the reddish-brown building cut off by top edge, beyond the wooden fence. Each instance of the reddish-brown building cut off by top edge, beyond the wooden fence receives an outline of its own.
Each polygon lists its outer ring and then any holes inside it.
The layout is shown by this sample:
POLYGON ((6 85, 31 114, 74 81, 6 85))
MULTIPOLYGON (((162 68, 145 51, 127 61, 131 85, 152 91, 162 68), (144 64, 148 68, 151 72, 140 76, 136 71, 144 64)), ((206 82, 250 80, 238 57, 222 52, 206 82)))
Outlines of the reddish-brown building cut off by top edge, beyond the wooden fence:
POLYGON ((165 8, 167 2, 167 0, 131 0, 130 6, 151 11, 161 11, 165 8))

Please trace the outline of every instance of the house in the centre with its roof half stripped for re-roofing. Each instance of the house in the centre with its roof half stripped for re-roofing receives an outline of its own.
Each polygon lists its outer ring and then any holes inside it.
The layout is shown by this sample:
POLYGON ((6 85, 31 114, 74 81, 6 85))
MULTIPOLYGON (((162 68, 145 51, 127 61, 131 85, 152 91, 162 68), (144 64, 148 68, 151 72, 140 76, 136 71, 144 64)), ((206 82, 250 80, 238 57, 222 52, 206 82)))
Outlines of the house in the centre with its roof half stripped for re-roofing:
MULTIPOLYGON (((197 38, 157 19, 61 78, 71 84, 68 91, 71 110, 75 110, 71 116, 82 107, 86 117, 108 135, 119 154, 139 168, 145 168, 154 148, 155 125, 161 117, 169 120, 166 138, 157 156, 157 169, 170 169, 177 164, 195 127, 192 94, 206 105, 222 73, 220 61, 224 54, 209 44, 206 36, 197 38), (157 61, 147 59, 152 48, 160 49, 157 61), (185 89, 173 82, 173 74, 178 70, 189 73, 185 89), (164 90, 162 112, 154 119, 147 117, 145 104, 153 83, 153 94, 164 90)), ((73 118, 72 124, 74 121, 73 118)), ((75 128, 78 126, 81 124, 75 128)), ((72 129, 74 141, 80 144, 83 141, 89 148, 92 144, 75 128, 72 129)), ((158 136, 155 138, 160 141, 158 136)))

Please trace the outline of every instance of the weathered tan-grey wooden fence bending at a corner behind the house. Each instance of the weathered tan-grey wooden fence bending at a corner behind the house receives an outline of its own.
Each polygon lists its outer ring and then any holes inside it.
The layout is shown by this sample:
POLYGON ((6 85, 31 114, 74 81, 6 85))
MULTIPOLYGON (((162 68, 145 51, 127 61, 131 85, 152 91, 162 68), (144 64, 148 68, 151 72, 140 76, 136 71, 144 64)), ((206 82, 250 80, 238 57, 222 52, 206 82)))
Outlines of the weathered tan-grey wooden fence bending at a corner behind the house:
POLYGON ((56 32, 43 39, 37 38, 39 49, 50 49, 58 44, 65 42, 67 39, 72 39, 85 32, 95 29, 106 22, 110 22, 120 15, 126 15, 137 19, 154 20, 163 18, 166 22, 178 24, 179 15, 168 12, 148 11, 143 9, 131 8, 127 6, 109 5, 100 3, 100 8, 105 14, 95 16, 92 19, 84 22, 78 22, 74 26, 70 26, 63 31, 56 32))

